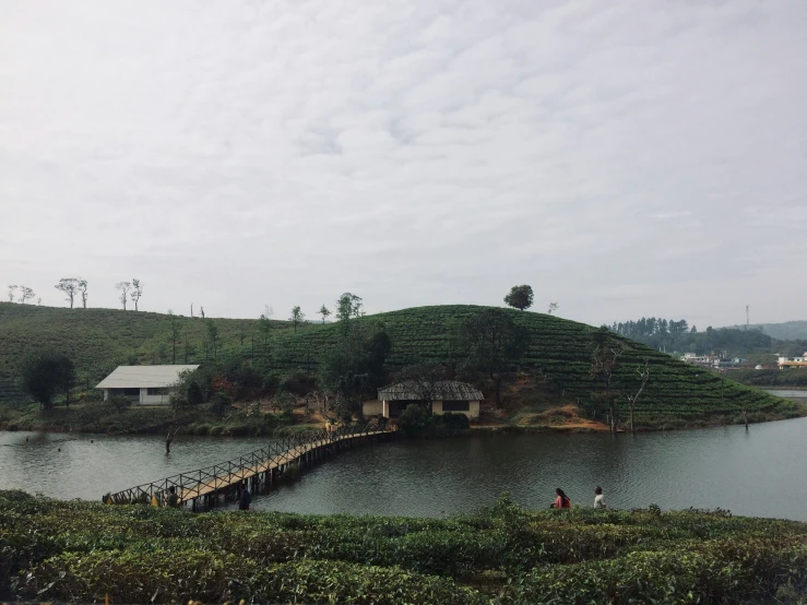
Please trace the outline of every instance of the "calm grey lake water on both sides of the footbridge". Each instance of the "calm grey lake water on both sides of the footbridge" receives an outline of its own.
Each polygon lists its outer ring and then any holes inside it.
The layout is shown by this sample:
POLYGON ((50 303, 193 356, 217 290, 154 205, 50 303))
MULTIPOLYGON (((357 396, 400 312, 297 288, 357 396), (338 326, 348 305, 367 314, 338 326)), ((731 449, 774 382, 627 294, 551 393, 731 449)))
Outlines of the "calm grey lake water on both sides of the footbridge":
MULTIPOLYGON (((262 439, 0 434, 0 486, 97 500, 138 483, 246 453, 262 439), (27 446, 25 438, 29 438, 27 446), (91 442, 91 439, 94 442, 91 442), (9 447, 11 446, 11 447, 9 447), (61 452, 58 451, 61 448, 61 452)), ((589 505, 729 509, 807 521, 807 418, 643 435, 483 435, 394 441, 343 452, 254 509, 440 517, 490 505, 499 493, 545 508, 555 487, 589 505)))

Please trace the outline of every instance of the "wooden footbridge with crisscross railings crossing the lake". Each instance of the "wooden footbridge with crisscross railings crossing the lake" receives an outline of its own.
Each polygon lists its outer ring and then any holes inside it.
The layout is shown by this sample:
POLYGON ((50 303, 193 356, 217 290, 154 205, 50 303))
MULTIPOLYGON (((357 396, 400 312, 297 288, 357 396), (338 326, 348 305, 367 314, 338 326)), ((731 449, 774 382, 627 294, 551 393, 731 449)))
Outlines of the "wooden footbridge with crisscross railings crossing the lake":
POLYGON ((394 429, 379 423, 299 432, 227 462, 108 494, 104 502, 165 506, 168 489, 174 487, 180 505, 190 502, 194 511, 206 509, 215 506, 219 496, 225 500, 228 495, 235 496, 245 483, 252 494, 268 491, 289 472, 297 473, 342 449, 379 441, 393 434, 394 429))

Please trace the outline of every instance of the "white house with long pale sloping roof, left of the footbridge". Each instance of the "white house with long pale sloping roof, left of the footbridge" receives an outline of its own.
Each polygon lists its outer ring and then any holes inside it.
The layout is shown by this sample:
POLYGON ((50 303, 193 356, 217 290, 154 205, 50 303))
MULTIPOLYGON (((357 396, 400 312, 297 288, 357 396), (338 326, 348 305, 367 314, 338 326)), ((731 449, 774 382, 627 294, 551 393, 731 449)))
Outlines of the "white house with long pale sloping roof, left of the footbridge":
POLYGON ((195 366, 118 366, 98 382, 96 389, 104 390, 104 401, 122 395, 140 405, 168 405, 168 388, 179 373, 194 370, 195 366))

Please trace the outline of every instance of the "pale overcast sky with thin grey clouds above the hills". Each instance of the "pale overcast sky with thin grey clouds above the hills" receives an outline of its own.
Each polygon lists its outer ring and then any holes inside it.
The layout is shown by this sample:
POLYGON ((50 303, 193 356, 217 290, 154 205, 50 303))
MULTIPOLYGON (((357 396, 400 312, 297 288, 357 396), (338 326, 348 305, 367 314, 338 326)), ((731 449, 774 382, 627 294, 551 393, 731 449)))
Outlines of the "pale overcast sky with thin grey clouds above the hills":
POLYGON ((0 0, 0 294, 807 319, 806 107, 804 0, 0 0))

